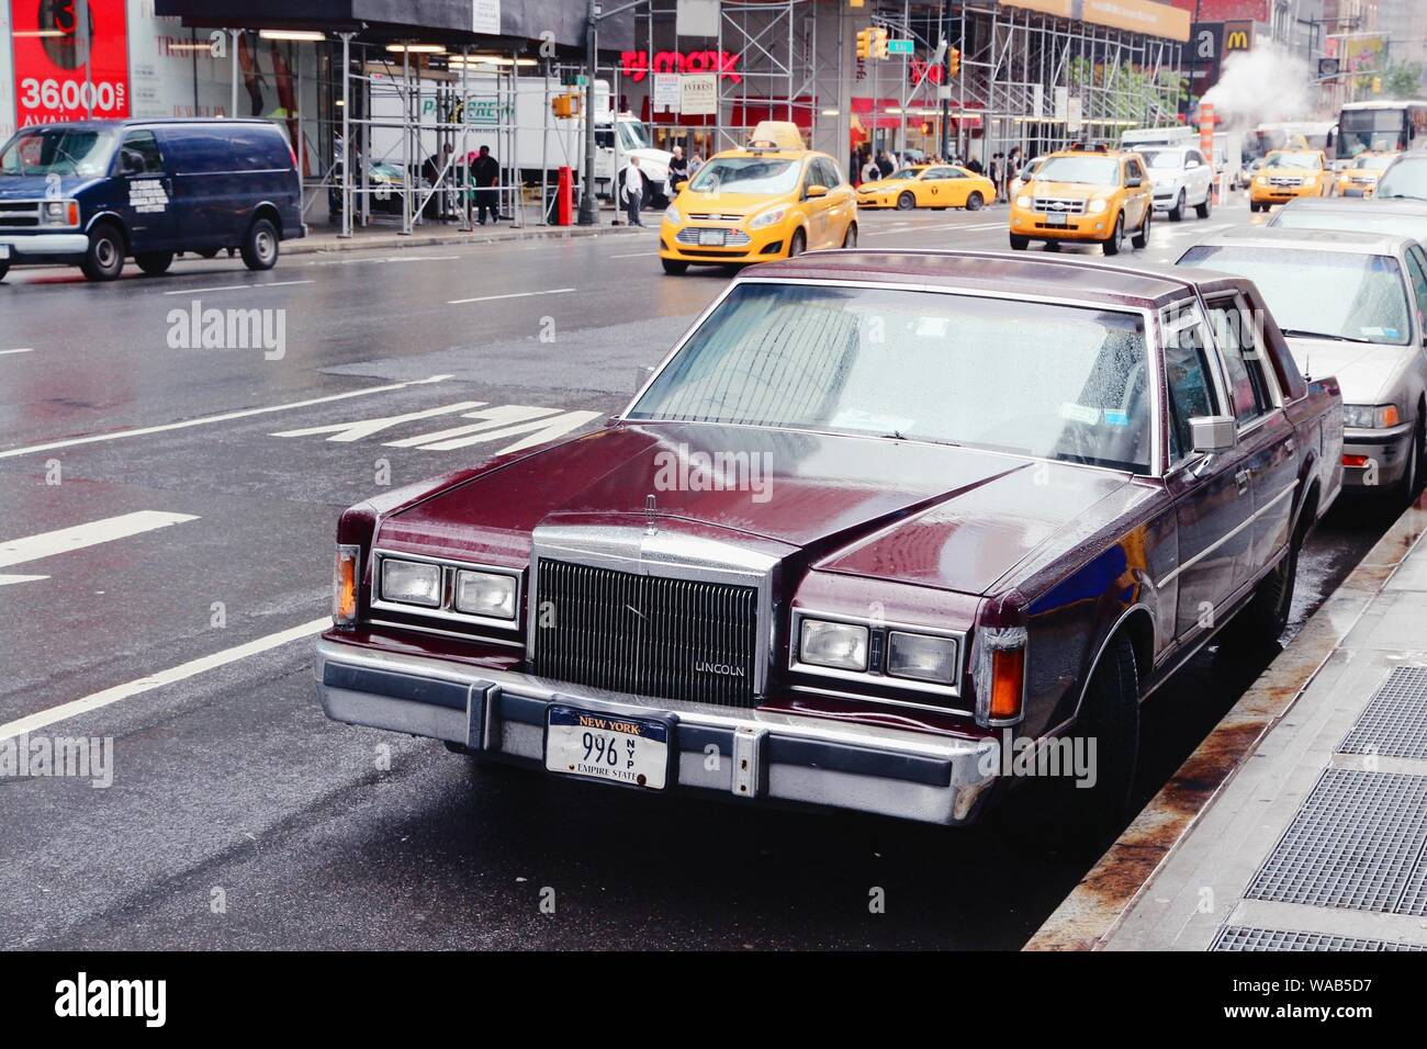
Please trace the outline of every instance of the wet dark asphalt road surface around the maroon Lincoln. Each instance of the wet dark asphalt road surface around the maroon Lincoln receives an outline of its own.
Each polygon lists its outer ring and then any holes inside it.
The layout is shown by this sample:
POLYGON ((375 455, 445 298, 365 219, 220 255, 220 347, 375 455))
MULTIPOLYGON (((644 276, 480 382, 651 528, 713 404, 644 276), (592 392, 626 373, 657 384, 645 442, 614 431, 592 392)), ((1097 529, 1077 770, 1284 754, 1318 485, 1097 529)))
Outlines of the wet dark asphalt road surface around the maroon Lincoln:
MULTIPOLYGON (((1170 261, 1247 221, 1237 204, 1159 223, 1129 257, 1170 261)), ((1005 211, 866 216, 863 245, 1002 248, 1005 211)), ((0 946, 1029 938, 1093 856, 1047 859, 992 828, 675 804, 488 771, 440 744, 332 725, 317 706, 310 631, 327 612, 337 512, 382 482, 598 425, 725 281, 664 277, 641 235, 291 255, 267 274, 180 261, 111 285, 11 271, 0 542, 41 537, 26 549, 47 555, 0 561, 0 725, 87 699, 37 731, 111 738, 114 775, 104 789, 0 778, 0 946), (194 303, 285 310, 281 355, 173 348, 171 313, 194 303), (559 414, 459 447, 438 437, 521 407, 559 414), (50 535, 110 518, 113 538, 81 549, 50 535), (283 631, 301 637, 233 654, 283 631), (124 688, 205 659, 171 684, 124 688), (869 913, 873 889, 885 913, 869 913)), ((1294 625, 1387 521, 1329 521, 1300 567, 1294 625)), ((1266 662, 1204 654, 1156 696, 1144 798, 1266 662)))

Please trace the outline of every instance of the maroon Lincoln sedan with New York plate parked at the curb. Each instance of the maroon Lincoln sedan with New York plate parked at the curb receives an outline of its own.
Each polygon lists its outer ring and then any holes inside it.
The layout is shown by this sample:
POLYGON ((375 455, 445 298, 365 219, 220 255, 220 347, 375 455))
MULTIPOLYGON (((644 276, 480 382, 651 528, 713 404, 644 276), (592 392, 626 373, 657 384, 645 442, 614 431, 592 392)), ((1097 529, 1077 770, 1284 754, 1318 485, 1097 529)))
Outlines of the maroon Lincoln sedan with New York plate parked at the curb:
POLYGON ((535 775, 935 824, 1087 742, 1067 794, 1110 816, 1140 701, 1222 628, 1281 632, 1341 427, 1241 278, 759 265, 602 430, 342 514, 323 706, 535 775))

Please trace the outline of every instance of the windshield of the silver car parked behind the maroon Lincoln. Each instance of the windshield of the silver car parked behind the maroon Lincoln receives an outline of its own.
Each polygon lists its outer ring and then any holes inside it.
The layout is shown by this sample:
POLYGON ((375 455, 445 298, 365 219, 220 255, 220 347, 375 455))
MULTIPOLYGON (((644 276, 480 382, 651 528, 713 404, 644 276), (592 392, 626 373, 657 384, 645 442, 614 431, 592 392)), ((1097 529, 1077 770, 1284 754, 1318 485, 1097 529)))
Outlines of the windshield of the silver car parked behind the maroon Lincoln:
POLYGON ((1179 264, 1247 277, 1287 335, 1406 345, 1411 334, 1403 273, 1387 255, 1200 245, 1179 264))

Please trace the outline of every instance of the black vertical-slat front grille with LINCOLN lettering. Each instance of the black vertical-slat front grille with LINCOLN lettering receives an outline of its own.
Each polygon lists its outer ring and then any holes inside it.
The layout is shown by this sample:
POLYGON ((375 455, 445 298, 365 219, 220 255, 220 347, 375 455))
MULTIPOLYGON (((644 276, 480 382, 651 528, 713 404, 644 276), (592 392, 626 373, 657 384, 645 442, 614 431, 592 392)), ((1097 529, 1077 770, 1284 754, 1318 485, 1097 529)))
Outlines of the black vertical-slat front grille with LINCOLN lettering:
POLYGON ((634 695, 756 705, 758 589, 537 561, 535 674, 634 695))

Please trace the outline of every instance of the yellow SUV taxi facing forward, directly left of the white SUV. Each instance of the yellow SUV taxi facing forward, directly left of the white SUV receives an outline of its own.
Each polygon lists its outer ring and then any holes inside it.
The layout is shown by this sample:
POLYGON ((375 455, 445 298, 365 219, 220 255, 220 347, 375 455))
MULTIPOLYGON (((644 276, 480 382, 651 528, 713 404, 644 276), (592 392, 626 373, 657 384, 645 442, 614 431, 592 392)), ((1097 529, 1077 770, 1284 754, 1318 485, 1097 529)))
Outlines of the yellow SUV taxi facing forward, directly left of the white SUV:
POLYGON ((1154 190, 1140 154, 1072 148, 1047 153, 1010 198, 1010 247, 1025 251, 1043 240, 1052 251, 1062 241, 1099 244, 1116 255, 1124 237, 1149 244, 1154 190))

